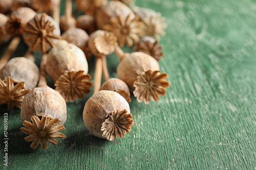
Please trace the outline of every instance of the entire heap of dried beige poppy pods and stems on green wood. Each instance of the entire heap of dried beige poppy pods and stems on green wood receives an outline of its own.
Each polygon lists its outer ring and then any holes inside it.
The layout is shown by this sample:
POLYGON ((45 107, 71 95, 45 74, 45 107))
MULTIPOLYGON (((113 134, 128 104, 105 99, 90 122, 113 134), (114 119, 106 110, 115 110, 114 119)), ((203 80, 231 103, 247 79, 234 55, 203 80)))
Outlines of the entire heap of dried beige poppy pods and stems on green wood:
POLYGON ((83 120, 93 135, 114 140, 131 131, 133 116, 130 94, 139 103, 158 101, 169 83, 160 72, 158 61, 163 56, 158 38, 166 24, 160 13, 139 8, 133 1, 66 0, 65 15, 59 15, 60 0, 4 0, 0 2, 0 45, 10 44, 0 59, 0 104, 8 110, 20 108, 31 148, 56 138, 66 138, 66 102, 84 98, 83 120), (28 45, 23 57, 10 59, 20 41, 28 45), (123 45, 134 46, 124 53, 123 45), (40 70, 33 53, 41 52, 40 70), (110 78, 106 57, 119 58, 117 78, 110 78), (88 74, 88 60, 95 57, 94 82, 88 74), (55 89, 47 85, 46 76, 55 89), (102 75, 104 82, 101 82, 102 75))

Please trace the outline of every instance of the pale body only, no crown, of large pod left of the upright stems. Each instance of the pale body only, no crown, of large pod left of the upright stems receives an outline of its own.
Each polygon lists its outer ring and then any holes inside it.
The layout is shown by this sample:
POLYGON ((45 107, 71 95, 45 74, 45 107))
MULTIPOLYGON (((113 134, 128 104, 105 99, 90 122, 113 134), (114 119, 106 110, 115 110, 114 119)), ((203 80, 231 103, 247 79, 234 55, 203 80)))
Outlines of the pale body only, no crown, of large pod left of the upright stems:
POLYGON ((48 53, 46 71, 55 82, 66 70, 82 70, 88 73, 88 63, 82 50, 72 43, 59 40, 48 53))

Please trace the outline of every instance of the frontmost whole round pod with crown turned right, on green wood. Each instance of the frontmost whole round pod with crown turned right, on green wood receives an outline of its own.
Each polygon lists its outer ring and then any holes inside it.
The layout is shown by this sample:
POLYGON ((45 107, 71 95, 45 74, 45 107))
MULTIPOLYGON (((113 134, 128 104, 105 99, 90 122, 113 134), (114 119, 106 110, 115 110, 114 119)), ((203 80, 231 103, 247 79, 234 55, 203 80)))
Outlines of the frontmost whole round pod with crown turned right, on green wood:
POLYGON ((83 122, 94 135, 108 140, 131 131, 133 116, 129 104, 115 91, 100 90, 84 106, 83 122))

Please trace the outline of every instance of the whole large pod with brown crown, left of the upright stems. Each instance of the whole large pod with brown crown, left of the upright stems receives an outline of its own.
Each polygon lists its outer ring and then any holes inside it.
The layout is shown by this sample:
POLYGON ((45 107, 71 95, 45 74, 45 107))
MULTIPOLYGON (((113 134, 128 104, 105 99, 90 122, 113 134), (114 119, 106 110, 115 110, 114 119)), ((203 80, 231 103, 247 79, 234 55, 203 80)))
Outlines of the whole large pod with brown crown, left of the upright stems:
POLYGON ((46 71, 55 82, 56 90, 66 101, 83 98, 90 92, 88 63, 80 48, 65 40, 59 40, 48 54, 46 71))

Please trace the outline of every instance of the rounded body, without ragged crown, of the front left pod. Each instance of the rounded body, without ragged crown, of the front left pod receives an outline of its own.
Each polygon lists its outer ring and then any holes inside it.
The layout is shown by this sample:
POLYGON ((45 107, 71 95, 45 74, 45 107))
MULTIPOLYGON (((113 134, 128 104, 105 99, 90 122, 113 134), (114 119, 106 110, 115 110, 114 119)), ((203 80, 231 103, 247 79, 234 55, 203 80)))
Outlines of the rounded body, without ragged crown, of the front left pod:
POLYGON ((31 90, 22 102, 20 118, 31 121, 32 116, 41 113, 61 120, 63 125, 67 120, 67 106, 60 93, 50 87, 36 87, 31 90))

